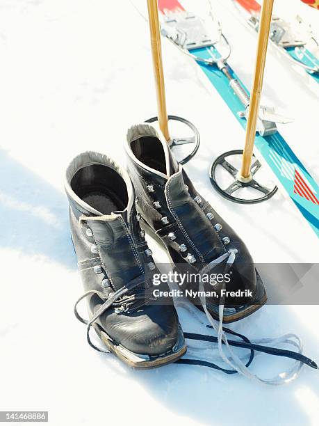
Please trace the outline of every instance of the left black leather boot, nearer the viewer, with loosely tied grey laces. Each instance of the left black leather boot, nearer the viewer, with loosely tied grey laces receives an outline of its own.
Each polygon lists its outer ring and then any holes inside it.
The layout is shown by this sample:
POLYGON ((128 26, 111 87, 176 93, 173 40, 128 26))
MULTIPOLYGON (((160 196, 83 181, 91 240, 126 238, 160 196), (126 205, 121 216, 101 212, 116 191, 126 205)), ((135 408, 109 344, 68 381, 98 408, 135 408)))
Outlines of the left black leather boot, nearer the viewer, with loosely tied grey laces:
MULTIPOLYGON (((90 319, 106 347, 126 364, 153 368, 186 352, 177 312, 152 300, 145 269, 156 271, 126 171, 106 155, 84 152, 67 168, 72 240, 90 319)), ((79 303, 79 301, 77 303, 79 303)), ((77 306, 76 303, 76 306, 77 306)))

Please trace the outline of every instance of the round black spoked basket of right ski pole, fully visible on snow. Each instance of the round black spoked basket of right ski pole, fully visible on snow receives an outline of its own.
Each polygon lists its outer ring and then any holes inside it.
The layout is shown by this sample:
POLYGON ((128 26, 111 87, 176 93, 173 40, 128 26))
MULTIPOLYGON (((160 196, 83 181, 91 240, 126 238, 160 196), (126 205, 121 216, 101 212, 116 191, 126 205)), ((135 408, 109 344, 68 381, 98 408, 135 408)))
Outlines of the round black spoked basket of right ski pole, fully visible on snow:
POLYGON ((256 159, 256 157, 253 156, 252 167, 250 169, 250 178, 243 178, 240 176, 238 169, 229 161, 229 157, 239 155, 241 158, 243 155, 243 150, 225 152, 224 154, 220 155, 220 157, 215 159, 211 165, 209 178, 216 191, 218 191, 218 193, 224 198, 227 198, 227 200, 231 200, 239 204, 261 203, 262 201, 268 200, 273 195, 275 195, 278 189, 276 186, 272 187, 272 189, 269 189, 268 187, 265 187, 265 185, 256 181, 255 175, 261 168, 261 163, 258 159, 256 159), (231 184, 228 184, 226 188, 223 188, 222 184, 218 182, 222 176, 220 173, 217 173, 218 168, 224 169, 224 171, 227 171, 229 175, 231 175, 233 181, 231 184), (236 196, 236 191, 240 189, 242 191, 240 191, 240 194, 236 196), (254 196, 254 198, 247 198, 249 193, 258 194, 258 196, 254 196))

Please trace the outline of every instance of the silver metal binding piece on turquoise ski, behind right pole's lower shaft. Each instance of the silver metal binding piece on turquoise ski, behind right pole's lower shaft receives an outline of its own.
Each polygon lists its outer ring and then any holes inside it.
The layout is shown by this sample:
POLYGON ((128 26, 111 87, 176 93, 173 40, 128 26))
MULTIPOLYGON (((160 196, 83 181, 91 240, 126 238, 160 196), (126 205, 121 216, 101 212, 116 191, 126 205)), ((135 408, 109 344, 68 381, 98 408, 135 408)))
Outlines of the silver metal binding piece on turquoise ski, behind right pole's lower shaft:
MULTIPOLYGON (((240 111, 238 116, 240 116, 240 118, 247 119, 248 113, 249 107, 247 107, 245 111, 240 111)), ((276 123, 286 124, 291 123, 292 121, 293 120, 291 118, 280 116, 275 113, 275 108, 273 107, 260 107, 256 130, 261 136, 270 136, 277 132, 276 123)))

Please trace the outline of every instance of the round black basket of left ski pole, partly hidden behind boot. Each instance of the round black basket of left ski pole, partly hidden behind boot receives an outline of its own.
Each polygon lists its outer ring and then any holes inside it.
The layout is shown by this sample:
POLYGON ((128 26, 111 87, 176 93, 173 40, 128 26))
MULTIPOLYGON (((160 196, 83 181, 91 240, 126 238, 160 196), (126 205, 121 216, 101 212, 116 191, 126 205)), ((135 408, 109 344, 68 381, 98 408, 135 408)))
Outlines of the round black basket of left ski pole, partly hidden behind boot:
MULTIPOLYGON (((171 150, 174 152, 175 157, 177 158, 177 161, 179 161, 179 164, 186 164, 190 159, 192 159, 196 152, 198 151, 199 144, 200 144, 200 136, 197 128, 193 123, 190 123, 190 121, 186 120, 185 118, 177 117, 177 116, 167 116, 168 123, 170 122, 178 122, 183 123, 188 129, 188 132, 190 134, 193 134, 193 136, 186 136, 183 138, 180 137, 174 137, 171 135, 171 139, 168 142, 170 145, 171 150), (190 150, 186 149, 190 146, 190 150)), ((157 117, 149 118, 149 120, 146 120, 145 123, 155 123, 158 121, 157 117)), ((177 132, 175 130, 175 132, 177 132)))

